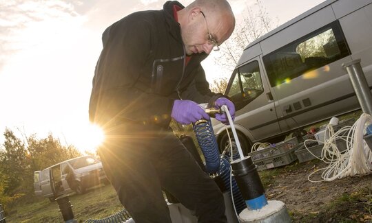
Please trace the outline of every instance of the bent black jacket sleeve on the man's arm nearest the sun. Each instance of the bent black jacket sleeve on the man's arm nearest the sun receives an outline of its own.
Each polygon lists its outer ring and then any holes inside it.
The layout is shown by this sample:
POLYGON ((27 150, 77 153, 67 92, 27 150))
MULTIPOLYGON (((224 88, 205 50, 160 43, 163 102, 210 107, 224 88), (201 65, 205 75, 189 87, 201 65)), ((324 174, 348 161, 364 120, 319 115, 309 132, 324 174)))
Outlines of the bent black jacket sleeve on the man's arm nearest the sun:
POLYGON ((120 117, 168 126, 174 100, 134 86, 154 45, 156 27, 152 24, 132 14, 106 32, 94 75, 90 113, 95 114, 90 114, 91 119, 120 117))

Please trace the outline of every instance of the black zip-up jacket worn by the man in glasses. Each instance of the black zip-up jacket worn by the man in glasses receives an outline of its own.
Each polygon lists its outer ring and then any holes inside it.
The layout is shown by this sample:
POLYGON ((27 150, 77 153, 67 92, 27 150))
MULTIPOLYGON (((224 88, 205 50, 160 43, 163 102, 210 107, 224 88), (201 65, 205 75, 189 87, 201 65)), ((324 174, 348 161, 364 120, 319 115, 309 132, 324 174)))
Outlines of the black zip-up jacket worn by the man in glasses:
POLYGON ((174 99, 209 102, 209 90, 194 54, 185 66, 180 25, 167 1, 163 10, 135 12, 103 33, 103 50, 94 72, 90 121, 112 119, 167 127, 174 99))

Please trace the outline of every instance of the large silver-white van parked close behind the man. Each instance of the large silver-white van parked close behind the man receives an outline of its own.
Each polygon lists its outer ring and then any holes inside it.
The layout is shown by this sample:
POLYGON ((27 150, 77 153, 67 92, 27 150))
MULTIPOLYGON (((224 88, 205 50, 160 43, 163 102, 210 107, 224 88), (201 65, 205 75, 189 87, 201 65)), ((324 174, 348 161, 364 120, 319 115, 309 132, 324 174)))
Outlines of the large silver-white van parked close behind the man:
MULTIPOLYGON (((342 67, 356 59, 371 89, 372 0, 324 1, 249 44, 225 91, 245 154, 252 143, 360 108, 342 67)), ((223 150, 225 128, 213 125, 223 150)))

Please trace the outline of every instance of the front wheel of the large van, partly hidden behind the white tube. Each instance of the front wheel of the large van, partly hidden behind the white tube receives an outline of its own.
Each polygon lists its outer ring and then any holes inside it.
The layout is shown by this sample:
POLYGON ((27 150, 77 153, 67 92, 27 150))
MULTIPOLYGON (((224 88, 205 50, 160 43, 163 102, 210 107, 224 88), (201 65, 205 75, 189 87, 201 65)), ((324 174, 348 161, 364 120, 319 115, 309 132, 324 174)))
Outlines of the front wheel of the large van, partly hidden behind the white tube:
MULTIPOLYGON (((232 134, 231 131, 229 131, 230 137, 231 137, 231 144, 232 144, 232 150, 233 150, 233 157, 239 157, 239 152, 238 152, 238 146, 236 145, 236 141, 234 139, 234 135, 232 134)), ((243 155, 247 155, 249 152, 251 152, 251 143, 249 143, 247 137, 243 135, 240 132, 236 132, 239 138, 240 142, 240 147, 242 148, 242 153, 243 155)), ((221 154, 223 151, 226 150, 225 154, 229 156, 230 151, 231 151, 231 145, 229 141, 229 136, 227 136, 227 133, 223 135, 220 141, 220 152, 221 154)))

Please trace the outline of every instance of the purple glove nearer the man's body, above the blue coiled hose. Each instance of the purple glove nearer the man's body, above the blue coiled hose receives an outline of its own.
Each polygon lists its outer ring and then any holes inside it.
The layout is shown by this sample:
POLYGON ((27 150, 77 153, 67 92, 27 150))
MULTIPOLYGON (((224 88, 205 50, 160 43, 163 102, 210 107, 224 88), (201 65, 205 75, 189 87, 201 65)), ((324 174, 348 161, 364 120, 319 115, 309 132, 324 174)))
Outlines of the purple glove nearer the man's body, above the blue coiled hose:
POLYGON ((188 125, 200 119, 209 120, 209 115, 198 104, 190 100, 175 100, 171 117, 178 123, 188 125))

